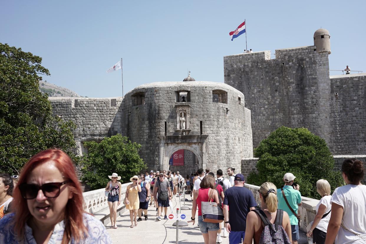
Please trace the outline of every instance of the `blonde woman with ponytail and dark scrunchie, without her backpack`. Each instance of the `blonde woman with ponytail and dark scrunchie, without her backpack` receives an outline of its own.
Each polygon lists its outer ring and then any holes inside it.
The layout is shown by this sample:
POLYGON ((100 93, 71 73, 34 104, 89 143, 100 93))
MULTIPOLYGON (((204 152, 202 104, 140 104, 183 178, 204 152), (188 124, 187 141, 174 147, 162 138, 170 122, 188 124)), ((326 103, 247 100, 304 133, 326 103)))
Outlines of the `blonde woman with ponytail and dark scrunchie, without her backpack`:
MULTIPOLYGON (((275 223, 276 221, 276 215, 277 215, 277 187, 275 184, 271 182, 265 182, 261 185, 261 187, 258 190, 259 192, 259 198, 261 199, 261 210, 266 215, 266 218, 269 220, 271 224, 275 223)), ((287 236, 284 237, 284 243, 291 243, 290 240, 292 240, 291 236, 291 224, 290 224, 290 218, 288 217, 288 214, 283 211, 283 217, 282 217, 282 227, 285 230, 287 236), (287 238, 287 239, 286 239, 287 238)), ((245 237, 243 244, 254 244, 259 243, 259 240, 261 238, 261 234, 264 230, 264 225, 262 224, 262 219, 259 217, 259 215, 254 211, 250 211, 247 215, 247 225, 245 229, 245 237)))

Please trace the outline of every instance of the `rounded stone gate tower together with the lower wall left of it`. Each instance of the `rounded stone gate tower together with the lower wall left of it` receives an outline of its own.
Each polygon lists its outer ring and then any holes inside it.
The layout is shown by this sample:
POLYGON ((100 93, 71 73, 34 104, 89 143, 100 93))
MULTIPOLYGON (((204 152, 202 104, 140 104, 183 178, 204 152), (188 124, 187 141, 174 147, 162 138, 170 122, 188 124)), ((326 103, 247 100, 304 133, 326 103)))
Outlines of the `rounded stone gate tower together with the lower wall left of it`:
MULTIPOLYGON (((79 154, 86 151, 83 141, 98 141, 119 133, 142 145, 139 154, 148 169, 168 169, 169 157, 179 149, 193 151, 199 167, 212 171, 229 166, 240 168, 242 158, 253 157, 250 110, 244 107, 244 95, 224 83, 157 82, 136 87, 123 100, 50 101, 55 115, 76 124, 74 135, 79 154), (187 92, 188 101, 180 102, 179 92, 187 92), (189 110, 186 135, 177 131, 180 107, 189 110)), ((187 166, 176 170, 186 175, 198 168, 193 167, 193 162, 187 166)))

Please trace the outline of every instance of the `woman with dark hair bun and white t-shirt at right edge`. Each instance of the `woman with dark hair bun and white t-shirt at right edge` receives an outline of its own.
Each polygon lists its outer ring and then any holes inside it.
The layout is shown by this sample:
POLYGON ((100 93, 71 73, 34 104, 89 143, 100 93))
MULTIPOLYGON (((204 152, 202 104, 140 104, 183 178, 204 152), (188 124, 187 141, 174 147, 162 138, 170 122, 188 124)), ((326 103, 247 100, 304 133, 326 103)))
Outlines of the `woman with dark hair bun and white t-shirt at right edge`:
POLYGON ((362 161, 350 158, 343 161, 342 176, 347 185, 333 192, 326 232, 326 244, 366 243, 366 186, 361 184, 365 169, 362 161))

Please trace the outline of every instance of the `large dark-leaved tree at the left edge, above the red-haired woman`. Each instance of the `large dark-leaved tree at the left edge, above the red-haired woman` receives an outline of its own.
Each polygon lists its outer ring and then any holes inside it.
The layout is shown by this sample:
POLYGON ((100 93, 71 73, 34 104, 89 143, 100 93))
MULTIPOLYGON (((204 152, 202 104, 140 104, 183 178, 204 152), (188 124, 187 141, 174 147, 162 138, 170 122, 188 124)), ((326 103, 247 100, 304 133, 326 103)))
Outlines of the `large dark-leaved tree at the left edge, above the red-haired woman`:
POLYGON ((75 125, 52 115, 39 90, 39 75, 50 75, 42 58, 0 43, 0 172, 18 174, 41 150, 57 147, 72 153, 75 125))

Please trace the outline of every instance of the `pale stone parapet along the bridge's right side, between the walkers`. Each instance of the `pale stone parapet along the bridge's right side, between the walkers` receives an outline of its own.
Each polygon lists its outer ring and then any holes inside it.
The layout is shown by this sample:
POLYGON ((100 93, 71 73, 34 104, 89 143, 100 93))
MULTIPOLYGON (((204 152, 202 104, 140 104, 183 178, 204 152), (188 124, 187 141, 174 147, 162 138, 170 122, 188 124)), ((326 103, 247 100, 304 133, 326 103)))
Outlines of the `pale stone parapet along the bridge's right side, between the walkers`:
MULTIPOLYGON (((261 199, 259 198, 259 186, 257 185, 250 185, 245 183, 245 187, 250 189, 253 192, 254 199, 258 203, 258 206, 261 206, 261 199)), ((299 214, 300 214, 300 230, 306 232, 306 226, 314 220, 315 218, 315 207, 317 206, 319 200, 313 198, 306 198, 304 196, 301 197, 302 204, 299 207, 299 214)))

